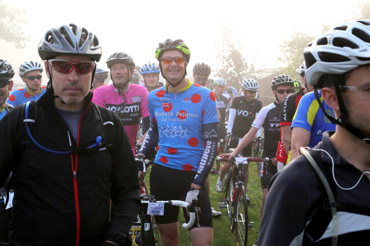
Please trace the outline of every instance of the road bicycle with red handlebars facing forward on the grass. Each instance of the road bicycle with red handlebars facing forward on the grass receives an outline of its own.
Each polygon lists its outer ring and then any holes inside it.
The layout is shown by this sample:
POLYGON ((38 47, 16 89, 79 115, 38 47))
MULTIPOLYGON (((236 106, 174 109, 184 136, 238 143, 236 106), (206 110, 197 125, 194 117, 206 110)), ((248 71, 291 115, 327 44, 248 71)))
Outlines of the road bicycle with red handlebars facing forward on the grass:
POLYGON ((249 221, 248 217, 247 196, 243 182, 245 165, 248 165, 249 162, 270 163, 271 160, 268 157, 257 158, 240 155, 233 159, 224 159, 221 157, 217 157, 217 159, 232 162, 229 173, 223 179, 226 182, 224 186, 225 200, 219 203, 219 208, 227 209, 231 232, 233 233, 235 231, 235 243, 237 246, 244 246, 248 242, 248 229, 253 229, 253 222, 249 221), (233 167, 236 168, 234 169, 233 167))

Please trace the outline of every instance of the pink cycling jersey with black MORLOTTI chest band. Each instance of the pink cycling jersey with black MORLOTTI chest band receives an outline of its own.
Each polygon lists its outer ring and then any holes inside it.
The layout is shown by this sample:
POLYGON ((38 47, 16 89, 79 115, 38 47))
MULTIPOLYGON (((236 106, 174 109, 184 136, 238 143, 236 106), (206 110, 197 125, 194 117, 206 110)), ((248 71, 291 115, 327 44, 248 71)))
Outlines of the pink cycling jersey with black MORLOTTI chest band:
POLYGON ((136 133, 140 118, 149 117, 148 90, 144 86, 129 84, 123 93, 113 84, 94 90, 92 102, 116 112, 124 125, 132 151, 135 153, 136 133))

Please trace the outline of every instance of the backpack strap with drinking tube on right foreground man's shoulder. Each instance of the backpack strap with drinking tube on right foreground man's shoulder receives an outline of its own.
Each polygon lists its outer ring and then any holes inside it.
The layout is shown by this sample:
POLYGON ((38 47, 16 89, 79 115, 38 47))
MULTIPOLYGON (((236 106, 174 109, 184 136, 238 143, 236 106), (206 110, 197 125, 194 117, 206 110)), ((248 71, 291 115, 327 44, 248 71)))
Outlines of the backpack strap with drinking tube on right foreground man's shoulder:
MULTIPOLYGON (((306 159, 311 164, 313 170, 316 173, 316 178, 318 178, 318 184, 321 187, 320 191, 323 194, 324 198, 327 198, 329 200, 329 207, 331 210, 331 214, 327 212, 325 209, 326 202, 324 202, 324 208, 320 211, 318 211, 310 221, 310 223, 305 228, 305 233, 303 237, 302 245, 306 245, 309 243, 312 243, 315 240, 318 240, 323 233, 326 231, 327 225, 329 225, 330 221, 333 221, 333 236, 332 236, 332 246, 337 245, 338 240, 338 218, 337 218, 337 207, 340 206, 336 201, 336 197, 334 197, 333 194, 333 188, 330 186, 328 182, 328 171, 324 170, 326 174, 322 171, 322 169, 325 169, 320 154, 315 150, 310 150, 310 153, 303 147, 301 147, 300 152, 303 154, 303 156, 306 157, 306 159), (314 156, 314 158, 313 158, 314 156), (316 162, 317 161, 317 162, 316 162), (320 164, 317 164, 320 163, 320 164), (323 187, 323 188, 322 188, 323 187), (323 190, 325 192, 323 192, 323 190)), ((329 180, 331 180, 329 178, 329 180)), ((336 191, 334 187, 334 191, 336 191)), ((337 195, 337 194, 335 194, 337 195)), ((325 200, 324 200, 325 201, 325 200)))

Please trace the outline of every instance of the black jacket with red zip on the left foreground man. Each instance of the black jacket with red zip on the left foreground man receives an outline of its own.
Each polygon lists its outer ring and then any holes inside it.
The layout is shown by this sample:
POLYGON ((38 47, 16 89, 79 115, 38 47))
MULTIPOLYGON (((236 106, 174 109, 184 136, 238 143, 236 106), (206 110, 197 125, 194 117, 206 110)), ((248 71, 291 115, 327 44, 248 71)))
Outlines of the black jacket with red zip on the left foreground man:
POLYGON ((114 147, 65 155, 45 152, 33 143, 25 147, 22 141, 30 138, 22 108, 12 109, 0 121, 0 183, 10 171, 16 173, 10 245, 102 245, 105 240, 131 245, 128 231, 137 214, 139 188, 134 156, 120 118, 112 113, 109 123, 110 111, 98 106, 103 122, 108 122, 104 137, 89 93, 76 143, 55 110, 53 98, 50 89, 30 104, 28 118, 36 121, 31 129, 36 141, 63 151, 90 146, 102 136, 102 142, 108 139, 114 147))

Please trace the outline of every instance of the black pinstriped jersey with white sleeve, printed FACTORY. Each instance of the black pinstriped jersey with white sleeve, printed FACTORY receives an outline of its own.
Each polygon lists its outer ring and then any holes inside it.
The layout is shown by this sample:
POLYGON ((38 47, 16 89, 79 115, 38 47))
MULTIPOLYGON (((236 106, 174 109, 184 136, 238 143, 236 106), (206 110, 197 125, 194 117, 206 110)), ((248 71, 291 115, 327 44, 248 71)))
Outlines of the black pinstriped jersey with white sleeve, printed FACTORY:
POLYGON ((252 127, 264 129, 263 152, 269 158, 275 157, 280 139, 280 107, 281 104, 277 104, 276 101, 263 107, 252 124, 252 127))

